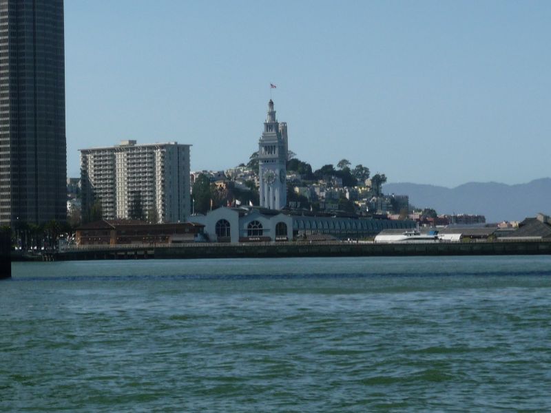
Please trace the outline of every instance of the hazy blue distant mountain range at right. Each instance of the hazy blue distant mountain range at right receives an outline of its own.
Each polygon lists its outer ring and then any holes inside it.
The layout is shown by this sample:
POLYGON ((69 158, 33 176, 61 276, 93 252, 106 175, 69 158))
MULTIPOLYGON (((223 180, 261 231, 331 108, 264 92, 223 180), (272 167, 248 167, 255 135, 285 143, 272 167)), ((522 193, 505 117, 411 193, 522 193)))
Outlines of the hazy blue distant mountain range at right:
POLYGON ((410 205, 433 208, 437 213, 486 215, 486 222, 523 220, 539 212, 551 214, 551 178, 528 184, 469 182, 455 188, 435 185, 385 184, 386 194, 409 195, 410 205))

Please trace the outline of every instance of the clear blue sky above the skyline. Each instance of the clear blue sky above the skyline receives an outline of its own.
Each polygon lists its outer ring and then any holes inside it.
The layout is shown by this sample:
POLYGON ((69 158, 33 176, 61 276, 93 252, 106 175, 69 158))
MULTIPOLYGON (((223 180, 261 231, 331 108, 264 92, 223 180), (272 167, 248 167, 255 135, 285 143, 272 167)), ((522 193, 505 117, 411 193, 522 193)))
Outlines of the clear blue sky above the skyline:
POLYGON ((247 162, 269 83, 289 149, 388 182, 551 176, 550 1, 65 0, 67 172, 84 147, 247 162))

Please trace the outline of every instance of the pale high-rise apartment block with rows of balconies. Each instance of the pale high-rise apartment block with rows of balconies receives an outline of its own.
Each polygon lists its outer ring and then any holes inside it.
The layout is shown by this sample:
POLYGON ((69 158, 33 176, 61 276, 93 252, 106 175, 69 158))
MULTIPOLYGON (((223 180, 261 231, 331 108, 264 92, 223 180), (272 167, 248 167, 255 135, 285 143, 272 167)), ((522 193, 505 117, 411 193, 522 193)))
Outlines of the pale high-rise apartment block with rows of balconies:
POLYGON ((191 202, 189 147, 123 140, 114 147, 81 149, 83 218, 98 202, 104 219, 184 222, 191 202))

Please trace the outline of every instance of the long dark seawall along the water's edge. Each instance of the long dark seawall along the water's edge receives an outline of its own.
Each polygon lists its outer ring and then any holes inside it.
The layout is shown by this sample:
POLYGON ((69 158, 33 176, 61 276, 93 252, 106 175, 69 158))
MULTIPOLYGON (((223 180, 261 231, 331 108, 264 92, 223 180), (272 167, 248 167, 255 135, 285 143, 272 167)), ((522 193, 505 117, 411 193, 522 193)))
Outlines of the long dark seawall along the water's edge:
POLYGON ((472 242, 441 244, 239 244, 79 249, 45 260, 132 260, 263 257, 362 257, 407 255, 551 255, 551 242, 472 242))

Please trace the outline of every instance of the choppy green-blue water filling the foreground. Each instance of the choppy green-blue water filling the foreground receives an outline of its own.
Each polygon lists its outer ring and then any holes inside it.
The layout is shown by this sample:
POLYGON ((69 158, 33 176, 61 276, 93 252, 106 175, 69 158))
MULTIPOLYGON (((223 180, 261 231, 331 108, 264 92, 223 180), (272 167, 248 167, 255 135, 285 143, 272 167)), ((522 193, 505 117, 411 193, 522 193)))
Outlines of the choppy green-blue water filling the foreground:
POLYGON ((12 273, 0 411, 551 411, 551 257, 12 273))

